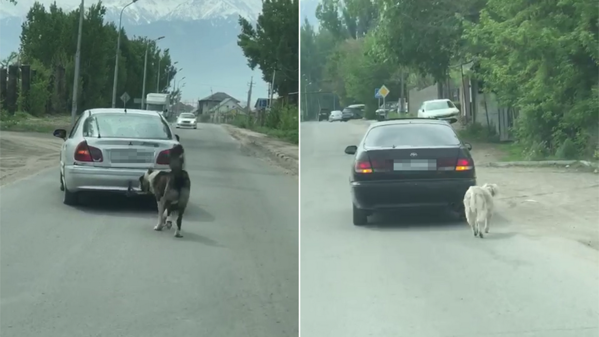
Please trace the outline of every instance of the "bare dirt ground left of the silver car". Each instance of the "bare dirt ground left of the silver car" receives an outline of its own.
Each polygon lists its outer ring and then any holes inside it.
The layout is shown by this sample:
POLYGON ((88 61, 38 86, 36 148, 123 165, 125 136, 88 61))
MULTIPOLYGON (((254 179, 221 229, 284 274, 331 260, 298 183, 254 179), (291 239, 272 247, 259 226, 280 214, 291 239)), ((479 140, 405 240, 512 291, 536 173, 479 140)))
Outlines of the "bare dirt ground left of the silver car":
POLYGON ((58 166, 62 143, 52 134, 1 131, 0 185, 58 166))

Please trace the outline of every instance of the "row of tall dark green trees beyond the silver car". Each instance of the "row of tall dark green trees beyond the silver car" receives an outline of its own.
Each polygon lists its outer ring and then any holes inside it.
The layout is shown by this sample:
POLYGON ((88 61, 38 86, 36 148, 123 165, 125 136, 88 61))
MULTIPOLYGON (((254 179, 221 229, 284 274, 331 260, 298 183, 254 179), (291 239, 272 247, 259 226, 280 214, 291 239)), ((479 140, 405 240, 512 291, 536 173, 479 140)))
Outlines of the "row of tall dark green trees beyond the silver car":
MULTIPOLYGON (((84 15, 81 38, 81 88, 78 98, 80 110, 108 107, 111 104, 117 29, 114 23, 105 23, 105 13, 106 9, 102 2, 97 2, 92 4, 84 15)), ((71 104, 69 96, 73 85, 78 22, 78 8, 66 13, 56 3, 51 4, 46 10, 39 2, 35 2, 22 25, 20 46, 22 63, 32 64, 32 67, 38 70, 38 74, 47 71, 52 73, 55 87, 52 92, 53 107, 59 109, 59 112, 65 111, 71 104), (56 71, 60 67, 65 69, 63 79, 58 78, 59 73, 56 71), (61 81, 64 85, 61 91, 58 91, 56 88, 61 81), (59 92, 62 92, 62 95, 58 95, 59 92)), ((161 67, 161 91, 168 87, 169 72, 170 79, 173 80, 175 71, 168 52, 162 53, 155 41, 148 40, 147 37, 129 40, 123 29, 117 95, 128 92, 131 97, 141 97, 146 46, 148 48, 146 92, 155 91, 158 63, 161 67)), ((50 83, 50 77, 34 79, 32 85, 37 85, 35 81, 50 83)), ((133 100, 128 103, 128 106, 139 107, 135 106, 133 100)))

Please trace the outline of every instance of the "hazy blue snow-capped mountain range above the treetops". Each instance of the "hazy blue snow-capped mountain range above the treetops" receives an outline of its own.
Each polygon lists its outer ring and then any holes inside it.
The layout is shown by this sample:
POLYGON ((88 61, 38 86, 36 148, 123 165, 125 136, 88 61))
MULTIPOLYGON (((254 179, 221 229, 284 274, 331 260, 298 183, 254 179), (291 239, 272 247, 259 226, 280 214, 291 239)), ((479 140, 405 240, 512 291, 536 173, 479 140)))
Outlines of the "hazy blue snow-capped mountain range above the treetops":
MULTIPOLYGON (((0 4, 0 58, 19 48, 21 24, 35 0, 17 0, 17 5, 0 4)), ((53 0, 38 0, 49 8, 53 0)), ((80 4, 77 0, 56 1, 65 11, 80 4)), ((98 0, 86 0, 85 7, 98 0)), ((120 12, 131 0, 107 0, 105 20, 118 25, 120 12)), ((255 95, 266 97, 267 84, 259 70, 247 67, 247 59, 237 46, 238 16, 250 22, 258 19, 262 0, 138 0, 123 10, 122 26, 133 35, 159 37, 162 49, 170 49, 173 61, 186 77, 183 100, 197 100, 211 92, 223 91, 241 100, 247 82, 254 77, 255 95), (264 92, 264 94, 261 94, 264 92)), ((171 83, 172 84, 172 83, 171 83)))

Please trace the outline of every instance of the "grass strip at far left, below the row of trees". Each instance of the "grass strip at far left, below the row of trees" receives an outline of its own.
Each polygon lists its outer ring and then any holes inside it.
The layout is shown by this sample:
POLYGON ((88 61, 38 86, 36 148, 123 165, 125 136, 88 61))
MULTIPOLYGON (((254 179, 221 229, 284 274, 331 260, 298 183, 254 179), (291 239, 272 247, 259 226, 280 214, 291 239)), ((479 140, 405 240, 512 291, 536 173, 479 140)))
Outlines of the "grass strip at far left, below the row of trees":
POLYGON ((26 112, 16 112, 13 116, 8 113, 0 113, 0 130, 52 133, 56 129, 69 130, 71 128, 71 116, 55 115, 34 117, 26 112))

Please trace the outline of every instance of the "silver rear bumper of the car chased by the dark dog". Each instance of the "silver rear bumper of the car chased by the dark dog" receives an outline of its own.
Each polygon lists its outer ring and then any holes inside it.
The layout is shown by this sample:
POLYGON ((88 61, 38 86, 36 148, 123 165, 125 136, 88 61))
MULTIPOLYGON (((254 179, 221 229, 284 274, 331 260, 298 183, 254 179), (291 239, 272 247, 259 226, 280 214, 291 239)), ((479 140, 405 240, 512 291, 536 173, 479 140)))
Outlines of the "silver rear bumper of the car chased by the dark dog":
POLYGON ((64 181, 71 192, 96 191, 146 194, 140 189, 140 177, 146 169, 65 166, 64 181), (131 189, 129 188, 131 186, 131 189))

